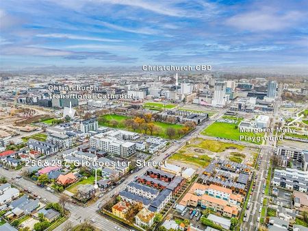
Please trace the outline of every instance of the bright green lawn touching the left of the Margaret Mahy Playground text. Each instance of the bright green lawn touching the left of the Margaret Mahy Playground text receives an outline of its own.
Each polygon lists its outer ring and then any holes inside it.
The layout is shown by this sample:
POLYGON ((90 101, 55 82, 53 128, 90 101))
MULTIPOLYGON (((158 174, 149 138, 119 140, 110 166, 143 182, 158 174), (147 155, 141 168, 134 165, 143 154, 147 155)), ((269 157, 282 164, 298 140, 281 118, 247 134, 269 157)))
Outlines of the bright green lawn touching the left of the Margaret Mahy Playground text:
MULTIPOLYGON (((263 133, 254 134, 253 132, 240 132, 238 128, 235 128, 236 124, 231 123, 222 123, 222 122, 215 122, 209 125, 201 134, 207 136, 215 136, 220 138, 229 138, 231 140, 240 141, 240 136, 252 136, 252 137, 262 137, 264 136, 263 133)), ((242 141, 245 141, 242 139, 242 141)), ((246 141, 250 143, 257 143, 261 144, 262 141, 246 141)))

